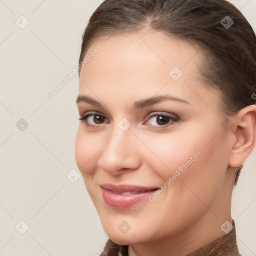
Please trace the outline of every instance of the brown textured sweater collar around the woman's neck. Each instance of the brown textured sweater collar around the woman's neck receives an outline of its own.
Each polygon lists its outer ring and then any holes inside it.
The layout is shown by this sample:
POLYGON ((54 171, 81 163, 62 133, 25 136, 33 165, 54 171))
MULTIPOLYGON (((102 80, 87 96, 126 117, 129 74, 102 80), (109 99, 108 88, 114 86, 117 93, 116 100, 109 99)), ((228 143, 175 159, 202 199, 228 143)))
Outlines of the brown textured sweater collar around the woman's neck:
MULTIPOLYGON (((234 228, 228 234, 203 245, 186 256, 241 256, 236 243, 234 220, 233 226, 234 228)), ((119 252, 119 256, 128 256, 128 245, 124 246, 122 252, 119 252)))

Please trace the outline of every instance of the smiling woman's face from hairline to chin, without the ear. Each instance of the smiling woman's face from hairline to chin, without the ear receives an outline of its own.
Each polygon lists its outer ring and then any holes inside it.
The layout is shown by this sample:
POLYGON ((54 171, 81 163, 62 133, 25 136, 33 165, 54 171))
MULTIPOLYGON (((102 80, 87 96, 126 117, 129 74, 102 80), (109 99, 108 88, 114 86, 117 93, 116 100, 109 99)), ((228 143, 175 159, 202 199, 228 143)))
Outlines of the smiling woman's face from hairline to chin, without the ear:
POLYGON ((148 30, 96 39, 88 54, 75 156, 107 235, 155 241, 220 216, 230 138, 199 48, 148 30))

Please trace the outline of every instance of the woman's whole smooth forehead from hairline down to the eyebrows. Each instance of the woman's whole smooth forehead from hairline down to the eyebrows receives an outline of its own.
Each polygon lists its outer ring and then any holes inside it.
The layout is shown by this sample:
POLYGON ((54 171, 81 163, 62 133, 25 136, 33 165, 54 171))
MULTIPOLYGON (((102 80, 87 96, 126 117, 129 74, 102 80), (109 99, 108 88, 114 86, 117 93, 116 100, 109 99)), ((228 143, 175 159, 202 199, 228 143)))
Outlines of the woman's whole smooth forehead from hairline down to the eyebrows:
POLYGON ((91 94, 93 89, 106 97, 111 91, 113 98, 135 101, 161 92, 189 97, 191 102, 200 100, 196 93, 200 92, 205 100, 213 100, 200 80, 202 50, 176 37, 156 31, 112 34, 95 39, 86 56, 89 61, 81 68, 79 94, 91 94), (98 53, 90 56, 95 49, 98 53))

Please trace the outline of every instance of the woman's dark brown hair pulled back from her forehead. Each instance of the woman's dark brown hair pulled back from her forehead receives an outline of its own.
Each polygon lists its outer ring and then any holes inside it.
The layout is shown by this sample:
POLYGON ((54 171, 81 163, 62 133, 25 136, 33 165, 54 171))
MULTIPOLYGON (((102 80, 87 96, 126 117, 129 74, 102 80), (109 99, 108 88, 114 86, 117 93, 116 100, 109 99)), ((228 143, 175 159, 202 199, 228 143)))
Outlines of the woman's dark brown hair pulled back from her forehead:
MULTIPOLYGON (((224 114, 232 116, 255 104, 255 33, 243 14, 226 0, 105 0, 83 33, 79 76, 93 40, 148 27, 199 45, 207 56, 200 70, 201 79, 205 86, 220 91, 224 114)), ((234 186, 242 167, 236 169, 234 186)), ((118 255, 120 250, 122 256, 128 255, 127 248, 109 239, 101 256, 118 255)))

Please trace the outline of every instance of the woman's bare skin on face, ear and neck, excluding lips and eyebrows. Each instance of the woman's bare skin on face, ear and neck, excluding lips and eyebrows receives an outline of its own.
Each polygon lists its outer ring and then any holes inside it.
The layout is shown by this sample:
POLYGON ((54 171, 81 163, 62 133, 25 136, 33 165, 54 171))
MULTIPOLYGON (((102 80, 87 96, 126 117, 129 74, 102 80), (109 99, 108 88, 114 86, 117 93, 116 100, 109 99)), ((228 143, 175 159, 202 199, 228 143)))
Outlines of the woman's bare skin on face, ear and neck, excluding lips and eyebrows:
POLYGON ((98 54, 81 69, 79 95, 104 107, 77 106, 79 116, 93 111, 105 119, 89 117, 94 128, 80 121, 75 157, 106 234, 129 244, 130 256, 183 256, 225 235, 220 226, 232 223, 235 168, 255 147, 256 106, 228 117, 233 126, 223 129, 227 116, 221 114, 219 92, 200 78, 203 52, 161 32, 101 37, 87 53, 94 48, 98 54), (183 72, 177 81, 169 75, 175 66, 183 72), (166 94, 189 103, 166 100, 132 108, 137 100, 166 94), (148 116, 161 112, 179 122, 167 119, 163 125, 148 116), (131 124, 125 132, 118 127, 123 118, 131 124), (161 187, 197 151, 201 155, 154 202, 121 210, 104 201, 99 184, 161 187), (118 228, 123 221, 131 226, 125 234, 118 228))

